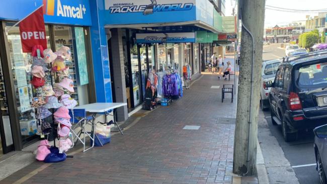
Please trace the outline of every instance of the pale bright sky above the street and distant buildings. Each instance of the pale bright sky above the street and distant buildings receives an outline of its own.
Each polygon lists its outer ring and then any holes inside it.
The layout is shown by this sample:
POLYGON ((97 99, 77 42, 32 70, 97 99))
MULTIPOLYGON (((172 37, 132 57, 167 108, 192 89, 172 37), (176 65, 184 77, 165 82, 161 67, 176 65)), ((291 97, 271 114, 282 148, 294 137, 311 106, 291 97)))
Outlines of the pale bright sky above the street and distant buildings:
MULTIPOLYGON (((226 0, 225 16, 231 16, 233 8, 232 6, 234 5, 235 0, 226 0)), ((267 0, 266 5, 297 10, 327 9, 326 0, 267 0)), ((267 28, 274 27, 275 25, 288 25, 288 23, 292 23, 293 21, 305 21, 306 15, 310 15, 311 17, 313 17, 317 16, 318 13, 290 13, 266 9, 265 27, 267 28)))

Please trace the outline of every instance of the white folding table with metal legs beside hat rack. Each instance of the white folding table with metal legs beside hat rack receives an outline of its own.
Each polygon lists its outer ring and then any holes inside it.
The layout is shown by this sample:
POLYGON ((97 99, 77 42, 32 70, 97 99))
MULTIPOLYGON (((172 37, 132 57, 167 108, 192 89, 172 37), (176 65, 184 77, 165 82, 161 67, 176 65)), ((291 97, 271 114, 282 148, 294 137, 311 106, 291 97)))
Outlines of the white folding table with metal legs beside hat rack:
MULTIPOLYGON (((86 104, 86 105, 76 106, 74 109, 85 109, 86 112, 92 113, 93 116, 95 117, 98 113, 107 114, 108 111, 114 110, 114 109, 117 109, 117 108, 120 108, 120 107, 123 107, 123 106, 127 106, 127 103, 93 103, 93 104, 86 104)), ((114 118, 114 124, 117 125, 120 133, 122 135, 124 135, 123 131, 119 127, 118 123, 116 122, 116 113, 115 112, 113 112, 113 118, 114 118)), ((96 136, 95 135, 95 126, 96 126, 95 118, 93 119, 92 124, 93 124, 92 125, 93 138, 95 138, 95 136, 96 136)), ((98 138, 98 140, 99 140, 99 138, 98 138)), ((94 142, 95 141, 93 141, 92 147, 94 147, 94 142)), ((102 142, 100 140, 99 140, 99 142, 102 145, 102 142)))

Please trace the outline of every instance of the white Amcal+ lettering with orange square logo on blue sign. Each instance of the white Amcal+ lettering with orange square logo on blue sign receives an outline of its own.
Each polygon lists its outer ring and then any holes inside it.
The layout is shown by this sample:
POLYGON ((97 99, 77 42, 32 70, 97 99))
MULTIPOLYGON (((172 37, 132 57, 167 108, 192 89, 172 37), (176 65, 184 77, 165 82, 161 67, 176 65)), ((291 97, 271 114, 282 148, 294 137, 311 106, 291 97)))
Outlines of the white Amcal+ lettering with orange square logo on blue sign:
POLYGON ((58 17, 69 17, 83 19, 87 9, 85 5, 79 4, 78 7, 63 5, 60 0, 43 0, 43 14, 54 16, 55 1, 57 1, 57 15, 58 17))

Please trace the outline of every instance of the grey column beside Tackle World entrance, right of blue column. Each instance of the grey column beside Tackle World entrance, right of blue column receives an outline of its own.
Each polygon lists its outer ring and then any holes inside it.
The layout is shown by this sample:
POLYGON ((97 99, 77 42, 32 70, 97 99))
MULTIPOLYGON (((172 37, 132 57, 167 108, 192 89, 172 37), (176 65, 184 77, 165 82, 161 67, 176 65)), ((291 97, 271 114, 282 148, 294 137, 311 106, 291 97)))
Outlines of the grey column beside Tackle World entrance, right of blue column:
MULTIPOLYGON (((125 63, 124 63, 124 54, 123 54, 123 40, 122 40, 122 30, 111 29, 111 39, 110 39, 112 48, 112 64, 113 64, 113 73, 114 73, 114 83, 116 94, 116 101, 127 103, 126 98, 126 83, 125 83, 125 63)), ((125 121, 128 118, 127 106, 118 108, 117 110, 117 121, 125 121)))

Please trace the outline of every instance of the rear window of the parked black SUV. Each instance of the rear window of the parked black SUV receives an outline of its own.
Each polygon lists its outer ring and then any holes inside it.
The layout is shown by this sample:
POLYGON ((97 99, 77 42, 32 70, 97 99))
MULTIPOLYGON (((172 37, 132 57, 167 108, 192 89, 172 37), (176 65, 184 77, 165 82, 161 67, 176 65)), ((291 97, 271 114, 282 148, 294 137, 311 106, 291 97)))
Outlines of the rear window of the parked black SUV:
POLYGON ((327 62, 301 66, 295 77, 297 86, 306 90, 327 87, 327 62))

